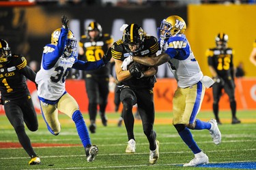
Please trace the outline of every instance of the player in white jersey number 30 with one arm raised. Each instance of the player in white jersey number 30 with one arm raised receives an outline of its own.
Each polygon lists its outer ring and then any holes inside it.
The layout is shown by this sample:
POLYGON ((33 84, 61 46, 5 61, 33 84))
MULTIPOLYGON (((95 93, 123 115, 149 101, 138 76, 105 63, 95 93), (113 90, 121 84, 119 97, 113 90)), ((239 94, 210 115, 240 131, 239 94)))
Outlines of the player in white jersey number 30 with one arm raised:
POLYGON ((94 161, 98 147, 91 145, 85 120, 76 100, 66 92, 66 77, 71 68, 81 70, 98 69, 109 60, 104 56, 100 61, 84 62, 77 59, 76 39, 68 29, 68 18, 62 16, 62 28, 52 33, 51 44, 44 46, 42 63, 35 82, 38 84, 38 98, 48 131, 58 135, 61 124, 58 112, 66 114, 76 124, 76 130, 85 148, 87 161, 94 161))

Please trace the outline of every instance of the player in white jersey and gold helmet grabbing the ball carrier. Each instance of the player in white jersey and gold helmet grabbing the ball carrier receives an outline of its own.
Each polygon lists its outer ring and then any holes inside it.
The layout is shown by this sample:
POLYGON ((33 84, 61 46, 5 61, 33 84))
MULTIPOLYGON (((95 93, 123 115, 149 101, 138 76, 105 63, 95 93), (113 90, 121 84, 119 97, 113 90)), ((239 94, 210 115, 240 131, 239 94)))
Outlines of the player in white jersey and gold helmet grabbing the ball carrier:
POLYGON ((221 143, 221 132, 216 120, 203 122, 196 119, 200 110, 205 88, 210 88, 214 81, 201 72, 199 64, 184 35, 186 23, 180 16, 169 16, 162 20, 158 28, 162 53, 157 57, 130 56, 122 69, 126 69, 131 61, 149 67, 169 64, 169 68, 177 80, 177 89, 173 97, 173 125, 195 158, 184 167, 208 163, 208 156, 202 152, 193 139, 190 129, 208 129, 216 145, 221 143))

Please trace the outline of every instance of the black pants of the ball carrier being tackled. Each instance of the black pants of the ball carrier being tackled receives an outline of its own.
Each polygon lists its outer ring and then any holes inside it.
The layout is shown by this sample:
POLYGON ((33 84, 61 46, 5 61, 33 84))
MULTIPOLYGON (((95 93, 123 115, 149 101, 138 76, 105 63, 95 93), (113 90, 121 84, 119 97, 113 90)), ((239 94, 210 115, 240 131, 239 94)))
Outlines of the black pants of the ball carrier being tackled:
POLYGON ((150 150, 156 150, 156 132, 153 131, 155 118, 153 90, 132 90, 130 88, 122 88, 120 99, 123 103, 122 114, 124 117, 128 140, 135 139, 133 133, 134 116, 132 114, 132 106, 137 103, 137 109, 141 116, 143 125, 143 132, 150 143, 150 150))

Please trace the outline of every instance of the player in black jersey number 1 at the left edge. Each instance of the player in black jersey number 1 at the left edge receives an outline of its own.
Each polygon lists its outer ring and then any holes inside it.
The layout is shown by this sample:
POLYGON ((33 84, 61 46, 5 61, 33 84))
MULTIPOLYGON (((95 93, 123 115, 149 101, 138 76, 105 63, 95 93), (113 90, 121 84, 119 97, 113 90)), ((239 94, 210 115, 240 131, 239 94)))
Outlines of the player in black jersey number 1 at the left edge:
POLYGON ((38 130, 38 118, 32 103, 27 79, 35 82, 35 72, 27 66, 23 55, 12 54, 7 41, 0 39, 0 91, 1 105, 14 127, 21 146, 29 154, 29 165, 40 164, 40 158, 35 154, 31 141, 25 132, 25 124, 30 131, 38 130))

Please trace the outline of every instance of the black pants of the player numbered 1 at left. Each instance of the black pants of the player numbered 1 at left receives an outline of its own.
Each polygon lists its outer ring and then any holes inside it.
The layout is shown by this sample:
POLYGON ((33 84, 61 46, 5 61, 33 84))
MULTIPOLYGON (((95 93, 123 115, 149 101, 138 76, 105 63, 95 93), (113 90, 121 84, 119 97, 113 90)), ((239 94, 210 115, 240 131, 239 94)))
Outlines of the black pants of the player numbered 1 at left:
POLYGON ((36 156, 29 137, 25 132, 25 125, 30 131, 38 130, 38 118, 33 107, 31 98, 20 99, 17 101, 9 101, 4 104, 5 114, 14 127, 14 130, 18 136, 21 146, 29 154, 29 156, 36 156))

